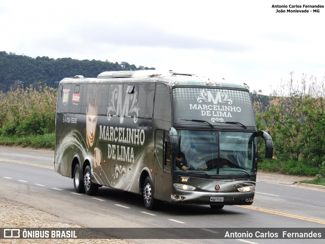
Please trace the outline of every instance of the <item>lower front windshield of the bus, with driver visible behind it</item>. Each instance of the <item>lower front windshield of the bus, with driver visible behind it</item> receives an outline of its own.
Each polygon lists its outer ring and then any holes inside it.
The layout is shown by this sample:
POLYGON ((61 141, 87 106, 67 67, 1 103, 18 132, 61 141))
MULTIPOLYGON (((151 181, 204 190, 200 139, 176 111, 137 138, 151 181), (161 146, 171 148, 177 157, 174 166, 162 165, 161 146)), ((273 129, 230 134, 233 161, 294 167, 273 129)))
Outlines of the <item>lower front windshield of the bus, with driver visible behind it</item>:
POLYGON ((257 138, 252 132, 178 130, 176 171, 209 175, 256 173, 257 138))

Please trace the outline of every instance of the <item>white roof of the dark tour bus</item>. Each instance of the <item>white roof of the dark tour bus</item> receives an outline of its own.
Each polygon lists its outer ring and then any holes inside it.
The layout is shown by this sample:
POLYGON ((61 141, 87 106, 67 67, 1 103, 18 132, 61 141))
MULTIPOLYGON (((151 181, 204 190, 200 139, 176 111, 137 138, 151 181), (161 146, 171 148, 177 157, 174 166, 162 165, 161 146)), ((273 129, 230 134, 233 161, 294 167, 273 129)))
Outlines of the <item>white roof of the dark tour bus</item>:
POLYGON ((71 78, 64 78, 60 83, 164 83, 168 86, 215 86, 248 89, 244 84, 227 82, 224 79, 214 77, 197 76, 190 73, 180 72, 159 72, 156 70, 137 70, 137 71, 106 71, 97 78, 84 78, 76 75, 71 78))

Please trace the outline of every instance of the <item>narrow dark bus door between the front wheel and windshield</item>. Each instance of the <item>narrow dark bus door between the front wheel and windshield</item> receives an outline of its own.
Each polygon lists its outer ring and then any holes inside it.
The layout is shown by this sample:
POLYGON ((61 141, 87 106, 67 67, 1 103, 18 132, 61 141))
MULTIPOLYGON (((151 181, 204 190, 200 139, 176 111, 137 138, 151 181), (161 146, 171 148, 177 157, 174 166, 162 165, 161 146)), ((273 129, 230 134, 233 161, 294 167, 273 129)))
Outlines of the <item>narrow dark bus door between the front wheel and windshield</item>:
POLYGON ((154 141, 154 198, 163 199, 164 196, 164 131, 155 131, 154 141))

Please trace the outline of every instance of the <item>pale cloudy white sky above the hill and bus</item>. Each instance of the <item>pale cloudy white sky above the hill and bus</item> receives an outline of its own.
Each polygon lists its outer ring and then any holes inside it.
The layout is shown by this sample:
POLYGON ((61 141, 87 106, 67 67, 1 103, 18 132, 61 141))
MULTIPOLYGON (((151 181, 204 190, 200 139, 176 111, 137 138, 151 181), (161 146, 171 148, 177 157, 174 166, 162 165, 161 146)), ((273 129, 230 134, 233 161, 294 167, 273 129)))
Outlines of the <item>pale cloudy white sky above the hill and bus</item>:
POLYGON ((246 83, 251 91, 270 95, 292 72, 298 84, 304 75, 325 79, 325 8, 304 4, 325 5, 318 0, 1 1, 0 51, 127 62, 246 83))

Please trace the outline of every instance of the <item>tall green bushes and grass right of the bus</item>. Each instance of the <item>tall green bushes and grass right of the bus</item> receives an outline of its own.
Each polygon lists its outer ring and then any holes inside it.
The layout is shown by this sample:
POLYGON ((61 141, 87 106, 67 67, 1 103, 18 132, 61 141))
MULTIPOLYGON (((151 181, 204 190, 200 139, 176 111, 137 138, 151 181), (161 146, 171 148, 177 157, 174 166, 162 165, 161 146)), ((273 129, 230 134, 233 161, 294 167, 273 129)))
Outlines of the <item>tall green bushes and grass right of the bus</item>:
POLYGON ((318 173, 318 165, 325 161, 324 97, 325 79, 319 82, 311 77, 307 82, 303 76, 295 83, 291 74, 267 106, 255 100, 257 128, 267 131, 274 144, 274 159, 270 160, 262 158, 264 145, 259 142, 259 169, 296 175, 318 173))

